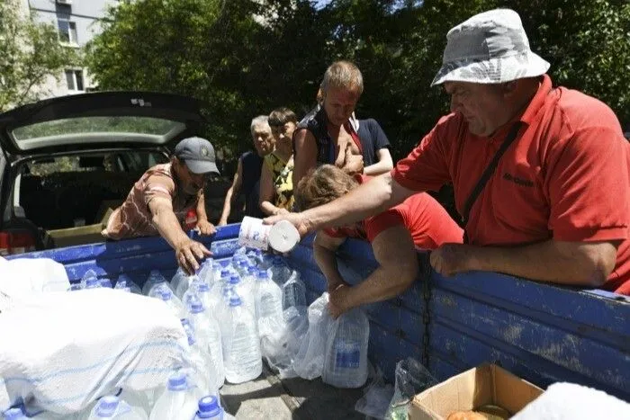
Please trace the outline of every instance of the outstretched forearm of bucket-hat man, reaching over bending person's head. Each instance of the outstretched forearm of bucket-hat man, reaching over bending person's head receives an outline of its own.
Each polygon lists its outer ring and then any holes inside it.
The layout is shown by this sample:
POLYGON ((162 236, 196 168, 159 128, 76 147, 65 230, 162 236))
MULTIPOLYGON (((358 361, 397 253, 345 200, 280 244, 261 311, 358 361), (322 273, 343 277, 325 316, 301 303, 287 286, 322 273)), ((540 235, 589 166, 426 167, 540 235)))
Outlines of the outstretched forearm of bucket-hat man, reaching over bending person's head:
POLYGON ((302 217, 310 231, 349 225, 367 219, 411 195, 410 190, 394 183, 391 174, 377 176, 335 201, 303 211, 302 217))

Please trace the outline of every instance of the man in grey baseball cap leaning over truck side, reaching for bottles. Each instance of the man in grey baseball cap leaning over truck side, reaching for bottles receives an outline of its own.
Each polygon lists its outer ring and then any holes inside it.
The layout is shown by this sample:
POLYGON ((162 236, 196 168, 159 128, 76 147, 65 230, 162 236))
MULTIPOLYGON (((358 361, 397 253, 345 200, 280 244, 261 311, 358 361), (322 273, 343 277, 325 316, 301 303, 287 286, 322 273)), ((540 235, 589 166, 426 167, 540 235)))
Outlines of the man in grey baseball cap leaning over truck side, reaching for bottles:
POLYGON ((205 212, 203 185, 208 174, 219 174, 214 147, 199 137, 181 140, 167 164, 148 169, 133 185, 121 207, 113 210, 103 229, 109 239, 161 235, 175 249, 186 273, 199 268, 208 248, 188 237, 184 229, 202 235, 215 232, 205 212))

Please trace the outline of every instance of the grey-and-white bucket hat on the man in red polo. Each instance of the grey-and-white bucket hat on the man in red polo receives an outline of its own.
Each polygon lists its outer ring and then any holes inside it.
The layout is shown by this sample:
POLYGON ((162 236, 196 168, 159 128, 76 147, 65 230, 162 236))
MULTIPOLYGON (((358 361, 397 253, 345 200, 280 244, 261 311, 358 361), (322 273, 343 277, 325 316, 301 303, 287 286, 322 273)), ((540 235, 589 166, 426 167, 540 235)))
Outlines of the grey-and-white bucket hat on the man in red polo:
POLYGON ((475 14, 448 31, 442 68, 431 85, 504 83, 541 76, 548 69, 549 63, 529 48, 518 13, 495 9, 475 14))

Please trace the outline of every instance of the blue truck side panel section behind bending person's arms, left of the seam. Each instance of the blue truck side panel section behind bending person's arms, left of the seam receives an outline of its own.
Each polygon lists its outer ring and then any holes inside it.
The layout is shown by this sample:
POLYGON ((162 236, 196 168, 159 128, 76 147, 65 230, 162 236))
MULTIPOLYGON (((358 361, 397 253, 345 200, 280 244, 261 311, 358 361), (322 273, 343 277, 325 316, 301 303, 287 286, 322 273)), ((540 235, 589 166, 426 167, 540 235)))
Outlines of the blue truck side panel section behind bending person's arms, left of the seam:
MULTIPOLYGON (((300 246, 293 250, 289 260, 302 273, 310 303, 326 290, 326 279, 313 258, 312 239, 312 236, 304 238, 300 246)), ((339 249, 339 272, 350 284, 363 281, 377 267, 372 247, 365 242, 348 240, 339 249)), ((417 281, 400 297, 365 307, 370 318, 370 359, 381 368, 387 380, 394 380, 399 360, 409 356, 421 360, 420 344, 424 325, 420 314, 424 303, 419 293, 417 281)))

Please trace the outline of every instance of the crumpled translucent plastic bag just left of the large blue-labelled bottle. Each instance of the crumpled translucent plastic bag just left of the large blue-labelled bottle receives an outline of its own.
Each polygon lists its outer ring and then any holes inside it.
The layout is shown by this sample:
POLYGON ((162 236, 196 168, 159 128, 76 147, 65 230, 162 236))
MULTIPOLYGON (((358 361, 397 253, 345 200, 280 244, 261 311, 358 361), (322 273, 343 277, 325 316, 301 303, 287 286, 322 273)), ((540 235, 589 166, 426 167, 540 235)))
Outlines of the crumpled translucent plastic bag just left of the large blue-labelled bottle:
POLYGON ((326 353, 326 338, 332 318, 329 315, 329 294, 324 292, 308 311, 309 330, 302 340, 300 352, 295 356, 293 370, 305 380, 321 376, 326 353))

